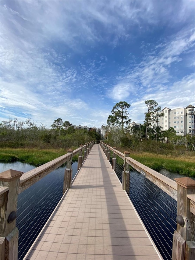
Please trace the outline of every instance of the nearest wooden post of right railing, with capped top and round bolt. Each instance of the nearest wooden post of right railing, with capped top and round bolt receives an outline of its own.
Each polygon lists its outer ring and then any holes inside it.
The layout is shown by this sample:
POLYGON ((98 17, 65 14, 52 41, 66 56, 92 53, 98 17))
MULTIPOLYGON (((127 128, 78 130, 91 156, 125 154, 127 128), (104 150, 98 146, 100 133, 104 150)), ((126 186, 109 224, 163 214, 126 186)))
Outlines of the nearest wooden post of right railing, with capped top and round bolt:
POLYGON ((173 234, 172 260, 194 260, 194 215, 187 194, 195 193, 195 181, 189 177, 174 179, 177 183, 177 230, 173 234))

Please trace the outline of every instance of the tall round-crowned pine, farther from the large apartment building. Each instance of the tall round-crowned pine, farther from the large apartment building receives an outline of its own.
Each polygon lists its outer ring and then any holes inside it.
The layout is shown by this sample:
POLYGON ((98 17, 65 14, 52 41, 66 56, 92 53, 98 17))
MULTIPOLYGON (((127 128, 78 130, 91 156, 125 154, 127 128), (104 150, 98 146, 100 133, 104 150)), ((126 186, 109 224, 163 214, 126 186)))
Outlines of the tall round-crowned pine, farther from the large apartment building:
POLYGON ((111 113, 114 115, 119 123, 122 126, 122 130, 124 130, 124 124, 128 124, 131 122, 131 119, 129 119, 129 114, 127 109, 130 107, 130 104, 128 104, 125 101, 120 101, 119 103, 116 103, 116 105, 113 107, 111 113))

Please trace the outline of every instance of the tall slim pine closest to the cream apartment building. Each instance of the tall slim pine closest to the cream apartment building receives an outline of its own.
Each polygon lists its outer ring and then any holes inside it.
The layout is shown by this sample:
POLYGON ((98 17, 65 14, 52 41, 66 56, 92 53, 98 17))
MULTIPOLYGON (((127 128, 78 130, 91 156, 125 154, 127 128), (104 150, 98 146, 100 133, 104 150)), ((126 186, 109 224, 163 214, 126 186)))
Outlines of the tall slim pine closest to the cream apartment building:
POLYGON ((145 125, 146 125, 146 136, 145 139, 147 140, 147 129, 149 126, 154 125, 158 122, 158 118, 164 116, 164 113, 161 112, 161 106, 158 106, 158 103, 153 99, 145 100, 144 101, 148 110, 145 113, 145 125), (159 113, 161 112, 161 113, 159 113))

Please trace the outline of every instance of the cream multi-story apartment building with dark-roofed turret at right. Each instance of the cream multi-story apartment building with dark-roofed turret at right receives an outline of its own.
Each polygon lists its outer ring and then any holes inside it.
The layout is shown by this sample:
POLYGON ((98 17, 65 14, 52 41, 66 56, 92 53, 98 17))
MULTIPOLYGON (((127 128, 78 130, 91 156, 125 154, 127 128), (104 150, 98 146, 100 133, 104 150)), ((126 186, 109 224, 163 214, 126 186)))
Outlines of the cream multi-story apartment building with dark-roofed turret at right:
POLYGON ((194 135, 194 106, 189 105, 186 108, 162 109, 164 116, 158 119, 156 125, 161 126, 161 131, 168 130, 170 127, 176 130, 177 135, 194 135))

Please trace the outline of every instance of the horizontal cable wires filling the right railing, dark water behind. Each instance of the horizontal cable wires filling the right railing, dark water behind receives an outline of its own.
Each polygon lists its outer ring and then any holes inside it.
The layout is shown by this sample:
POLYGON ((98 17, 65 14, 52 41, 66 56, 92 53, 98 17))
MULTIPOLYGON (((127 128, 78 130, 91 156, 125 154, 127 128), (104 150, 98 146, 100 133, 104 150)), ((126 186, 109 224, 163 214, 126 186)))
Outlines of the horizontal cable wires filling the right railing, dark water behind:
MULTIPOLYGON (((116 155, 116 175, 121 182, 123 169, 122 160, 116 155)), ((129 198, 161 255, 171 260, 173 232, 176 230, 176 201, 135 169, 130 170, 127 187, 129 198)))

